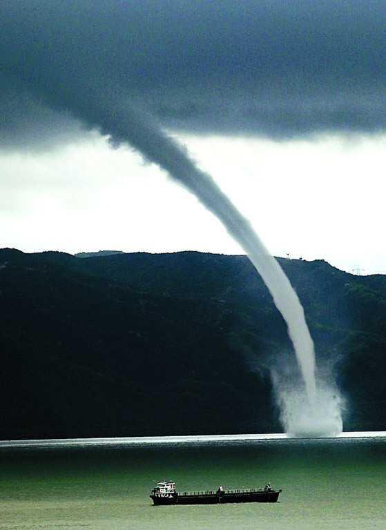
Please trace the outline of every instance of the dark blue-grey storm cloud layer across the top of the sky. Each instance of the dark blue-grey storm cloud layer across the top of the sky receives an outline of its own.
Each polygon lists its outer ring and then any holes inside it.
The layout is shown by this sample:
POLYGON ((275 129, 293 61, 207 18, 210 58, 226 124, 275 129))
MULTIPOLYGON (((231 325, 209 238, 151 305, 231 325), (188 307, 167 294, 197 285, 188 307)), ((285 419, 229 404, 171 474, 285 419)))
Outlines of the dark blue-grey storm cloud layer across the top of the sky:
POLYGON ((98 106, 126 105, 186 132, 378 132, 385 28, 381 0, 2 0, 1 142, 70 115, 108 133, 98 106))

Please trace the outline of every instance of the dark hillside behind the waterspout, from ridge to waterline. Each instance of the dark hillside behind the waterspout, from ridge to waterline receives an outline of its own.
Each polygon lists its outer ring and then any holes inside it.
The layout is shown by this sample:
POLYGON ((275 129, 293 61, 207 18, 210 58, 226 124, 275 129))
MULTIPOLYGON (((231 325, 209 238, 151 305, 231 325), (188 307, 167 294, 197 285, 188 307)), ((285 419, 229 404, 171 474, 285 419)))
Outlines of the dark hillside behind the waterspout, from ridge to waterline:
MULTIPOLYGON (((385 277, 280 263, 345 429, 386 429, 385 277)), ((0 438, 281 430, 269 369, 293 353, 246 257, 3 249, 0 311, 0 438)))

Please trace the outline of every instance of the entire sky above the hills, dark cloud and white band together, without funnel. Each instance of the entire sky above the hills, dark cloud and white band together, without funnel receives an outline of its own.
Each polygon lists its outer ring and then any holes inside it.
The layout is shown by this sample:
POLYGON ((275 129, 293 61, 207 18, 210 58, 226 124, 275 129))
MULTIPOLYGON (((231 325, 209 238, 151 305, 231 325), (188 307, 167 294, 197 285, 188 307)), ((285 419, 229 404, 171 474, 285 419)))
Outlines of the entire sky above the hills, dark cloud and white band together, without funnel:
POLYGON ((384 7, 3 0, 0 247, 240 253, 144 162, 139 115, 272 253, 386 273, 384 7))

